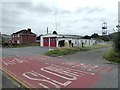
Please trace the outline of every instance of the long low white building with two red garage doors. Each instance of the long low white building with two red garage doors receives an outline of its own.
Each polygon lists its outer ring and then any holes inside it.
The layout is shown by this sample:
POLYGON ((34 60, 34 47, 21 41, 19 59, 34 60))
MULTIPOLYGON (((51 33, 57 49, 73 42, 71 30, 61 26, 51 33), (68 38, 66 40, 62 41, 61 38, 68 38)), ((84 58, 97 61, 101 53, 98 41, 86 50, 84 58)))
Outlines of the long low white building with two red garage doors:
POLYGON ((45 34, 41 36, 41 46, 45 47, 73 47, 90 46, 96 44, 94 39, 81 39, 78 35, 45 34))

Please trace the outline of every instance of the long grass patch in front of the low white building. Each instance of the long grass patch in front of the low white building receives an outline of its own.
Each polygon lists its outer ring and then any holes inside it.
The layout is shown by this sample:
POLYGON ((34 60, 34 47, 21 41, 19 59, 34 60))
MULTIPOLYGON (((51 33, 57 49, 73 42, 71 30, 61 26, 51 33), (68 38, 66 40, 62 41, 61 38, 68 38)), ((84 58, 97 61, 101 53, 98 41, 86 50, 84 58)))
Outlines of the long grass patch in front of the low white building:
POLYGON ((86 51, 87 49, 81 47, 71 47, 71 48, 57 48, 55 50, 51 50, 45 53, 48 56, 62 56, 67 54, 73 54, 79 51, 86 51))

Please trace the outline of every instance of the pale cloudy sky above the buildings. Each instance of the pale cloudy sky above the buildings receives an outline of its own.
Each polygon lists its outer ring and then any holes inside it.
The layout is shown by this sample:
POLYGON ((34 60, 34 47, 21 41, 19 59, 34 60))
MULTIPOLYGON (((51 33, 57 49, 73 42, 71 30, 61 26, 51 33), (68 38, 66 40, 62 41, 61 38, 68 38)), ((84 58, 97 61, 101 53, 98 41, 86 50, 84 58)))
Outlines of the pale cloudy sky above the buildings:
POLYGON ((101 34, 103 22, 108 32, 118 23, 119 0, 4 0, 0 4, 2 33, 31 28, 34 33, 101 34), (57 27, 56 27, 57 26, 57 27))

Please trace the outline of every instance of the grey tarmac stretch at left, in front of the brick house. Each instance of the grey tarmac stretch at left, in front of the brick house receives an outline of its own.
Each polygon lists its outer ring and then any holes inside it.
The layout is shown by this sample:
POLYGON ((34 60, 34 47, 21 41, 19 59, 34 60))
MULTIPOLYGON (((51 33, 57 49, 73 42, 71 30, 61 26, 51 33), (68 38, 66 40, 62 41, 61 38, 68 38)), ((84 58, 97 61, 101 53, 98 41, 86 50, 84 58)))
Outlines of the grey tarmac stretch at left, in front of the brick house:
POLYGON ((13 57, 13 56, 30 56, 30 55, 40 55, 48 51, 49 47, 23 47, 23 48, 4 48, 2 49, 2 57, 13 57))

